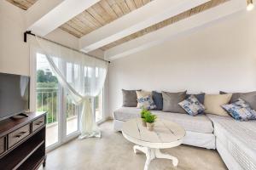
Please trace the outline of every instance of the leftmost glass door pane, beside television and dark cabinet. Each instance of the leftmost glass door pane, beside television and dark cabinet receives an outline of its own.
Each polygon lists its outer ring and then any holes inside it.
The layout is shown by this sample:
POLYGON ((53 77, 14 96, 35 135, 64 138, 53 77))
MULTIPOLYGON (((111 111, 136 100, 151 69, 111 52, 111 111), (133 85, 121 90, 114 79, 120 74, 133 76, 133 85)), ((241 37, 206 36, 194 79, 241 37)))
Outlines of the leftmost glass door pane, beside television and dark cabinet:
POLYGON ((37 111, 47 111, 46 147, 58 142, 59 84, 44 54, 37 54, 37 111))

